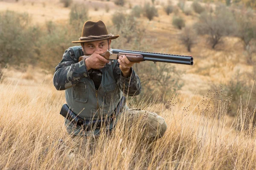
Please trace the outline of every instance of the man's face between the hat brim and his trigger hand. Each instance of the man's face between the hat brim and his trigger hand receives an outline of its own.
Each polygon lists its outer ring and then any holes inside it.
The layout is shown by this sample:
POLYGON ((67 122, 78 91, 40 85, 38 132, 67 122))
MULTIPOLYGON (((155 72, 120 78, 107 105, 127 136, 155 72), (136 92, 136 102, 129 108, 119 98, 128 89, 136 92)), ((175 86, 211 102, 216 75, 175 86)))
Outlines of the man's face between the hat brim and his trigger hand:
POLYGON ((99 40, 84 42, 82 45, 84 55, 91 55, 95 51, 107 51, 110 48, 111 40, 99 40), (109 42, 109 43, 108 43, 109 42))

